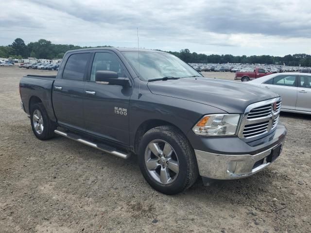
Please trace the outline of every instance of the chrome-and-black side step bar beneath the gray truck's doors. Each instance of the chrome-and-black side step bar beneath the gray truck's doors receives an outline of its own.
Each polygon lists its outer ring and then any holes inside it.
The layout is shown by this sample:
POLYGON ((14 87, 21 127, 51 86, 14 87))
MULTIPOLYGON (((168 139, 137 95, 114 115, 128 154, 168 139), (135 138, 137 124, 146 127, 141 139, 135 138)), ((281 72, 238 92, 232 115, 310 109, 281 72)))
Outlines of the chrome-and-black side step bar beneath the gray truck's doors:
POLYGON ((116 156, 118 156, 118 157, 120 157, 122 159, 127 159, 131 155, 130 153, 124 153, 124 152, 118 151, 115 148, 106 146, 104 144, 98 145, 98 144, 95 144, 93 142, 86 141, 85 139, 80 138, 80 136, 78 136, 78 135, 76 135, 74 133, 64 133, 64 132, 59 131, 59 130, 54 130, 54 133, 62 135, 62 136, 67 137, 69 139, 72 139, 74 141, 81 142, 81 143, 83 143, 83 144, 85 144, 87 146, 93 147, 95 149, 102 150, 102 151, 104 151, 106 153, 116 155, 116 156))

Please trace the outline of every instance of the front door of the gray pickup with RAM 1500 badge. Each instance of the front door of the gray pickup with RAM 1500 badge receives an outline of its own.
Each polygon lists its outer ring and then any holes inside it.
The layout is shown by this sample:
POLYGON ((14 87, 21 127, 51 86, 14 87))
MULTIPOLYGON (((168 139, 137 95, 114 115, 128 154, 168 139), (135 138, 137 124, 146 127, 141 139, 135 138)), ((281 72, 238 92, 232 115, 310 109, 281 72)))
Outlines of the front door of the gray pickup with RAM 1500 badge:
POLYGON ((86 132, 124 145, 129 144, 129 100, 132 87, 95 82, 98 70, 111 70, 129 78, 119 57, 112 51, 96 52, 85 84, 86 132))

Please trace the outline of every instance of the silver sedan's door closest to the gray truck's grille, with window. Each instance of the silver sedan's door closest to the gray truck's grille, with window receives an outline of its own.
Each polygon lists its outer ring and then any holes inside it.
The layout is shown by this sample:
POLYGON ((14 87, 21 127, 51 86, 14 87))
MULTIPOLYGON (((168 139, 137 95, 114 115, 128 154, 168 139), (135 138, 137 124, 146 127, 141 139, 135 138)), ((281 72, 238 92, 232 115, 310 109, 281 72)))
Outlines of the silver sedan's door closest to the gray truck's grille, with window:
POLYGON ((297 101, 296 75, 276 75, 260 86, 269 89, 282 97, 282 109, 294 110, 297 101))

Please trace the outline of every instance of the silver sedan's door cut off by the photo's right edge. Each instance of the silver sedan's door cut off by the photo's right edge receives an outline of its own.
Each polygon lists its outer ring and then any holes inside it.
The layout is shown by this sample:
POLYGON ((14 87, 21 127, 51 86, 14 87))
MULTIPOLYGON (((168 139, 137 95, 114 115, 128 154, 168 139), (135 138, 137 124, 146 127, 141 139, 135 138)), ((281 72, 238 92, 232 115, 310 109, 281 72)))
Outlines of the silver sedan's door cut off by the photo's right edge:
POLYGON ((299 75, 296 110, 311 112, 311 75, 299 75))

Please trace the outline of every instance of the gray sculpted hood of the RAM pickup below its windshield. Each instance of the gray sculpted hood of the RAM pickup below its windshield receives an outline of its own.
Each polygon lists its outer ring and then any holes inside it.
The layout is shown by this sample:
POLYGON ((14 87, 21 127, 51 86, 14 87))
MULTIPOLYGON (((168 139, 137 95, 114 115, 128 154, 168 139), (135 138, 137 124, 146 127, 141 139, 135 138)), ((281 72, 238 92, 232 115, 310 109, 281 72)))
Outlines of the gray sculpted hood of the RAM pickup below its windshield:
POLYGON ((227 113, 244 113, 254 102, 278 97, 254 85, 210 78, 181 78, 149 82, 153 94, 207 104, 227 113))

